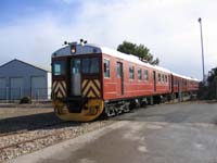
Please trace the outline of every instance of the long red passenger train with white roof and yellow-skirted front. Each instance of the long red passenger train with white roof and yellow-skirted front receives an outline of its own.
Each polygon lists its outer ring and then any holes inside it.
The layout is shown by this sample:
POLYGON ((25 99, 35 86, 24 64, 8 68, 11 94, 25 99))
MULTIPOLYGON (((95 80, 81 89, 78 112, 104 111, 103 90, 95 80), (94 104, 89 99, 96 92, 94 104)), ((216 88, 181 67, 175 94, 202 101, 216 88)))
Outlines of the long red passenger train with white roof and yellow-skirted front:
POLYGON ((65 121, 113 116, 197 89, 197 79, 103 46, 71 42, 52 53, 54 112, 65 121))

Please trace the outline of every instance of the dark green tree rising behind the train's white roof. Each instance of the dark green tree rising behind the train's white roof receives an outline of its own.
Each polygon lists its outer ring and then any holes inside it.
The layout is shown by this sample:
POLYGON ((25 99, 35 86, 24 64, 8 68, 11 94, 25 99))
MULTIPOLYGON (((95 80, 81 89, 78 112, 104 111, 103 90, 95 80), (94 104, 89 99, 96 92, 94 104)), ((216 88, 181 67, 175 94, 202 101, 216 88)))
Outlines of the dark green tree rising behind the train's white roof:
POLYGON ((133 54, 138 57, 140 60, 145 60, 150 64, 158 65, 159 60, 156 58, 154 60, 153 55, 150 53, 150 49, 144 47, 143 45, 136 45, 129 41, 124 41, 122 45, 117 47, 117 51, 127 53, 127 54, 133 54))

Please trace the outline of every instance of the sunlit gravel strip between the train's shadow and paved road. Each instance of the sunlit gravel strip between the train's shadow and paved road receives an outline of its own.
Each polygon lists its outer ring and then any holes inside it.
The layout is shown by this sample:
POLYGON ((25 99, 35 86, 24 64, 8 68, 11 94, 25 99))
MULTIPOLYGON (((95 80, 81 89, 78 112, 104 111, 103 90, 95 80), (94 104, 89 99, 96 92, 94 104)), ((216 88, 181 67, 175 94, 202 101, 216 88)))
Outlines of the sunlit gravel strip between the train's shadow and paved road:
POLYGON ((113 121, 98 121, 92 123, 67 123, 60 124, 59 126, 51 128, 36 129, 24 134, 0 137, 0 148, 25 140, 36 139, 30 142, 0 150, 0 162, 40 150, 44 147, 61 142, 66 139, 75 138, 85 133, 99 129, 112 123, 113 121))

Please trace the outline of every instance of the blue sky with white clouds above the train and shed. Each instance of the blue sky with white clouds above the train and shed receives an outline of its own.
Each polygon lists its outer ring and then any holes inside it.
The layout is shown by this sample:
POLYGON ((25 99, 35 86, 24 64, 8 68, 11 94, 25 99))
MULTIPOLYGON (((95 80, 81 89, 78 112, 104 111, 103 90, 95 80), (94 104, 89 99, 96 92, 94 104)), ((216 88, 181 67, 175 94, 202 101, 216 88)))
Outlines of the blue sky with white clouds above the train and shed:
POLYGON ((116 49, 144 45, 159 66, 202 79, 217 66, 216 0, 1 0, 0 65, 18 59, 49 67, 63 42, 87 39, 116 49))

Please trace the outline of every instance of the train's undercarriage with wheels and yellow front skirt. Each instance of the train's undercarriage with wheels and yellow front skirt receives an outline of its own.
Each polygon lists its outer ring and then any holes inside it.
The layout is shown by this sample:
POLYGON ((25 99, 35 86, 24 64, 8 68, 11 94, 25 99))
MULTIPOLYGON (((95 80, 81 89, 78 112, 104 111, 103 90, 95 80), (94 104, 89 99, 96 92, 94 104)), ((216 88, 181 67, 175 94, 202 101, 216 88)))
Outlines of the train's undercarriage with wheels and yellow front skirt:
POLYGON ((182 93, 168 93, 168 95, 156 95, 151 97, 138 97, 130 99, 118 99, 118 100, 105 100, 102 99, 89 99, 81 100, 67 99, 67 100, 54 100, 54 112, 64 121, 77 121, 77 122, 89 122, 94 121, 98 117, 111 117, 123 113, 130 112, 132 109, 144 108, 148 104, 159 104, 174 100, 183 101, 191 99, 192 92, 182 93))

